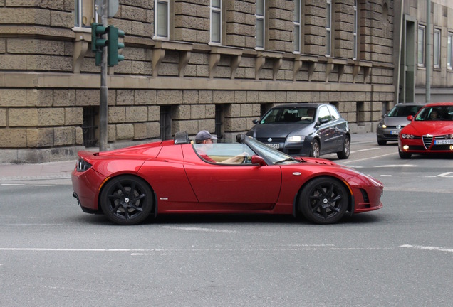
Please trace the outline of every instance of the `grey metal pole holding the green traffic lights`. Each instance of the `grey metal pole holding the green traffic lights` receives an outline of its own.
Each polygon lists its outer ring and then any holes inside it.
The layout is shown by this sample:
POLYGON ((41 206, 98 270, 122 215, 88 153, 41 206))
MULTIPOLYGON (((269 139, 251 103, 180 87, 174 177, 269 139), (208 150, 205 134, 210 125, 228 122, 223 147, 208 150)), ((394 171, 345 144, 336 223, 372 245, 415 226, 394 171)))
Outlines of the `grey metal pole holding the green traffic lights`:
MULTIPOLYGON (((107 27, 108 0, 103 0, 103 26, 107 27)), ((107 39, 107 34, 103 38, 107 39)), ((108 128, 108 87, 107 87, 107 47, 103 48, 100 62, 100 102, 99 102, 99 151, 107 151, 108 128)))

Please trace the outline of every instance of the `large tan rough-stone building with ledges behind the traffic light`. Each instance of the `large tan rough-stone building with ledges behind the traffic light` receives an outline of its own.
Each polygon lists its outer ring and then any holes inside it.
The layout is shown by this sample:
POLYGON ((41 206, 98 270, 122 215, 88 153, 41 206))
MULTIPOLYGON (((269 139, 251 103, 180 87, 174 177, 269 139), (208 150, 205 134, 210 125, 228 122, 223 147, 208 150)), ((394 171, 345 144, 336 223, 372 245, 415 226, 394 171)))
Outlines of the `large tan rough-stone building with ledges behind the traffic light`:
MULTIPOLYGON (((373 131, 395 103, 394 16, 392 0, 120 0, 108 146, 201 129, 230 141, 286 102, 328 102, 373 131)), ((0 163, 98 146, 93 21, 94 0, 0 4, 0 163)))

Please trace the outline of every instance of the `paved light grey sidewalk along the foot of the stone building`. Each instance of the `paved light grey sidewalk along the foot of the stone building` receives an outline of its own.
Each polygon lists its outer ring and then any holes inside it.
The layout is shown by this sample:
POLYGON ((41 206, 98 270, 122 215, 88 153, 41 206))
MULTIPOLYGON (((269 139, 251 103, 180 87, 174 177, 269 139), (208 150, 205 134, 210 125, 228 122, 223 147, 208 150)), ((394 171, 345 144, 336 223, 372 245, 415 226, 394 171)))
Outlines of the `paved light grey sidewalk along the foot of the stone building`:
MULTIPOLYGON (((351 135, 352 144, 373 141, 376 141, 376 134, 373 132, 351 135)), ((70 179, 74 168, 75 160, 38 164, 0 164, 0 183, 70 179)))

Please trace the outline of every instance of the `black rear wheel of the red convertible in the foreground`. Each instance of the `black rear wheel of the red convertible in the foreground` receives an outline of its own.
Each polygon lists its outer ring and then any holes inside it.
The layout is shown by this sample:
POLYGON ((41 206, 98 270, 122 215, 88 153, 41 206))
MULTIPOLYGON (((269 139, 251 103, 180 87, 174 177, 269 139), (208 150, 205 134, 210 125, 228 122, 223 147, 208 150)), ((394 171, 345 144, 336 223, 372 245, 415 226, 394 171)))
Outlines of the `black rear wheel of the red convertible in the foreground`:
POLYGON ((150 216, 154 197, 146 181, 135 176, 119 176, 103 188, 100 206, 115 224, 137 225, 150 216))

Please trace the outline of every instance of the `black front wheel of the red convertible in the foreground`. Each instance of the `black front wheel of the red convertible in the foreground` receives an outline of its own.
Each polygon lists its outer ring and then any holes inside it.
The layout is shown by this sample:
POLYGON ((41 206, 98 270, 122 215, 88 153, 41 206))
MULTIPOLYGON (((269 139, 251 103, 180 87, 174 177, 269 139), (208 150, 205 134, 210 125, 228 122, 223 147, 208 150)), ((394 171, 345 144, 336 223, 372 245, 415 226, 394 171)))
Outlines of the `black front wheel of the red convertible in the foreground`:
POLYGON ((303 216, 316 224, 338 222, 348 210, 349 194, 343 183, 330 177, 310 181, 298 199, 303 216))

